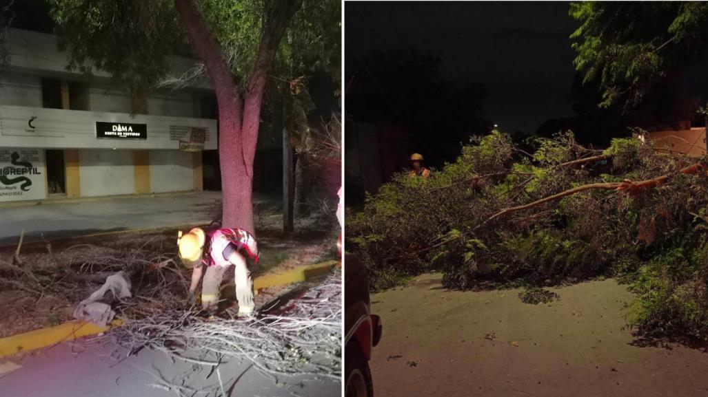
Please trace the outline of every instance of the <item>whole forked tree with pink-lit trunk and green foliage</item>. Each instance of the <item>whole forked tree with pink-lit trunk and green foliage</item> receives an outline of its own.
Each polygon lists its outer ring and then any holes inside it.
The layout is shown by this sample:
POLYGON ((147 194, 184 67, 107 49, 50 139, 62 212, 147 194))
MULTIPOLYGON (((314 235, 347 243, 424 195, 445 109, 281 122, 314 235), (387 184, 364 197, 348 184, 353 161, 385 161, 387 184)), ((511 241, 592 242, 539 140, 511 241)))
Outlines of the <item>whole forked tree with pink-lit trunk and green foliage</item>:
MULTIPOLYGON (((316 16, 301 10, 322 2, 50 0, 50 3, 61 44, 69 50, 69 67, 87 73, 92 69, 107 71, 134 97, 143 97, 164 81, 170 55, 191 52, 202 61, 201 69, 215 89, 219 109, 222 224, 253 232, 253 158, 266 86, 276 64, 296 59, 290 52, 302 49, 294 46, 298 40, 311 46, 323 45, 321 32, 308 28, 316 30, 327 23, 338 28, 337 20, 321 18, 313 23, 316 16), (297 13, 298 10, 301 11, 297 13), (309 20, 309 24, 303 26, 303 20, 309 20), (284 36, 287 40, 282 40, 284 36), (184 42, 188 42, 189 49, 184 42)), ((331 0, 324 4, 330 8, 339 6, 331 0)))

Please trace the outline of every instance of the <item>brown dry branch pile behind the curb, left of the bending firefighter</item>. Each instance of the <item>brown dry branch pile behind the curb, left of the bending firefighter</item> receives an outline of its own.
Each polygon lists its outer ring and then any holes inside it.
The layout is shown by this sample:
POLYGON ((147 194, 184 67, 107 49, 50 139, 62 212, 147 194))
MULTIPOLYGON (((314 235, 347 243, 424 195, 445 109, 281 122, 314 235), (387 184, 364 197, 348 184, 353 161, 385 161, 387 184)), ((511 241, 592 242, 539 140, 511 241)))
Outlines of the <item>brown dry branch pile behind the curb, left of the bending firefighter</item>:
POLYGON ((151 244, 159 236, 131 249, 79 244, 55 252, 45 241, 46 254, 22 254, 22 239, 12 256, 0 256, 0 288, 18 290, 36 298, 47 297, 69 305, 86 299, 105 279, 118 271, 130 275, 133 299, 122 302, 125 316, 144 316, 145 307, 169 309, 181 304, 186 280, 174 254, 161 254, 151 244))

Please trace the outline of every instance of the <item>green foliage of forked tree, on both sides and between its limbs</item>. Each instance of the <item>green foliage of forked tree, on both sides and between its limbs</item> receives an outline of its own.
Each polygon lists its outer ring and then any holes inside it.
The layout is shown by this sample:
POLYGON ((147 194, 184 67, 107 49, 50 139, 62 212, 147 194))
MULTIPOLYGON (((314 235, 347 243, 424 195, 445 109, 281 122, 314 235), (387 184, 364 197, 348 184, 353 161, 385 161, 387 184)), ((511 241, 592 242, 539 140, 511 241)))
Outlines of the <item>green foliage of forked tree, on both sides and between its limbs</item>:
MULTIPOLYGON (((69 69, 113 76, 132 92, 147 93, 169 72, 169 58, 189 56, 172 0, 49 0, 69 69)), ((198 8, 243 85, 255 62, 263 20, 273 0, 200 0, 198 8)), ((340 8, 333 0, 303 0, 275 58, 275 74, 290 85, 317 69, 338 68, 340 8)), ((296 84, 297 85, 297 84, 296 84)))

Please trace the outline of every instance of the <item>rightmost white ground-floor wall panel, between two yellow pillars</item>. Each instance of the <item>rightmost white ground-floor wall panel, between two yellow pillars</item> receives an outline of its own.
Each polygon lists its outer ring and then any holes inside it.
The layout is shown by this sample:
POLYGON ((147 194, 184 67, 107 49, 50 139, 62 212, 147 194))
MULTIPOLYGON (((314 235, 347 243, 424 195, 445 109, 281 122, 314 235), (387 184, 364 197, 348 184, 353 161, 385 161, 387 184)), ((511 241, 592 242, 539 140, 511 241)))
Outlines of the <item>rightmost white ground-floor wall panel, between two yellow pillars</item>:
POLYGON ((153 193, 193 189, 192 153, 150 150, 150 190, 153 193))

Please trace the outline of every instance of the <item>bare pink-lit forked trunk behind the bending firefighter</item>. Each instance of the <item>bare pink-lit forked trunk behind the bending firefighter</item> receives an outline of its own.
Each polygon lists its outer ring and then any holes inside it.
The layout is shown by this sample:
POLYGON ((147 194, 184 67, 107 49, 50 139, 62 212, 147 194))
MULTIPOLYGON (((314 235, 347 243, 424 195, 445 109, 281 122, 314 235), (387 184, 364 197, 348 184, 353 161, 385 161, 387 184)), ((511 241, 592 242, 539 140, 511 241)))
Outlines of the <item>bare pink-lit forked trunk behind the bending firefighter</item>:
POLYGON ((275 51, 300 0, 267 1, 256 63, 246 84, 244 101, 231 70, 193 0, 175 0, 177 13, 190 44, 204 62, 219 107, 219 165, 222 171, 223 227, 240 227, 255 235, 253 227, 253 157, 266 76, 275 51))

